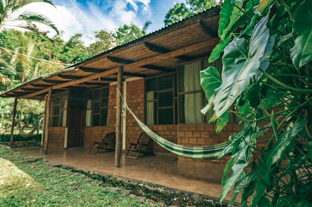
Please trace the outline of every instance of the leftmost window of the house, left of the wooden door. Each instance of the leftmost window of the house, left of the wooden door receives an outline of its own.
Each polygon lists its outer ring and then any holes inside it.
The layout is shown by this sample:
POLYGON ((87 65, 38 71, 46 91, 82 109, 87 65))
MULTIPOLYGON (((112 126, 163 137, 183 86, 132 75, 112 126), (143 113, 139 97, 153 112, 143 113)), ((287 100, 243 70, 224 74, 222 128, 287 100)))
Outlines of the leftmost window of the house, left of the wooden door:
POLYGON ((66 126, 67 92, 52 95, 50 126, 66 126))

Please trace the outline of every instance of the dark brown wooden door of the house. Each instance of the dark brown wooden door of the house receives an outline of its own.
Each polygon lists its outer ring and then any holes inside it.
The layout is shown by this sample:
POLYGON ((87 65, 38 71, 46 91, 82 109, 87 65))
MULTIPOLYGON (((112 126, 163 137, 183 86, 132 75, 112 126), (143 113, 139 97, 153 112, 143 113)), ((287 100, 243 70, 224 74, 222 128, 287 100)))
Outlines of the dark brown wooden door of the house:
POLYGON ((70 109, 67 148, 83 146, 83 110, 70 109))

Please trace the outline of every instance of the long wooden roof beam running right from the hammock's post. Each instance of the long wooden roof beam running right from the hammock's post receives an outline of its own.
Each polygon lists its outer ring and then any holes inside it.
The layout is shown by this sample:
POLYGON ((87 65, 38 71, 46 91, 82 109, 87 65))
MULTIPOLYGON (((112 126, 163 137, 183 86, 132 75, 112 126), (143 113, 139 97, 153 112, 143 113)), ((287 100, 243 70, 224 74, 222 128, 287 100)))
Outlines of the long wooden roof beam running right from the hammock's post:
POLYGON ((198 43, 196 45, 191 45, 191 46, 188 46, 188 47, 185 47, 185 48, 177 49, 177 50, 174 50, 174 51, 166 53, 166 54, 161 54, 161 55, 158 55, 158 56, 155 56, 155 57, 151 57, 151 58, 147 58, 147 59, 144 59, 144 60, 140 60, 138 62, 129 64, 129 65, 125 65, 124 66, 124 70, 129 70, 129 69, 135 68, 135 67, 141 67, 143 65, 148 65, 148 64, 151 64, 151 63, 155 63, 155 62, 158 62, 158 61, 161 61, 161 60, 164 60, 164 59, 175 58, 177 56, 188 54, 188 53, 191 53, 193 51, 196 51, 196 50, 199 50, 199 49, 203 49, 203 48, 206 48, 206 47, 213 47, 213 46, 217 45, 219 43, 219 41, 220 41, 220 38, 215 38, 215 39, 212 39, 212 40, 208 40, 208 41, 205 41, 205 42, 198 43))

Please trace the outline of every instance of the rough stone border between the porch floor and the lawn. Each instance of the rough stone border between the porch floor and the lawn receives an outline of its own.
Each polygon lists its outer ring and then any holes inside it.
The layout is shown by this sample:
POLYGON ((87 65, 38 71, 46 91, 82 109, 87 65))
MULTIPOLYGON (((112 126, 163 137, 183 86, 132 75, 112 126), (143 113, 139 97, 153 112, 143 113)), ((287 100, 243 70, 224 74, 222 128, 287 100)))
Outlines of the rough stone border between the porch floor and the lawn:
MULTIPOLYGON (((120 191, 130 197, 136 197, 140 202, 146 202, 149 206, 159 207, 230 207, 229 201, 223 201, 220 205, 219 199, 212 196, 182 191, 174 188, 156 185, 149 182, 133 180, 121 176, 113 176, 107 173, 86 170, 83 168, 69 166, 63 167, 72 172, 78 172, 82 178, 98 180, 100 186, 110 186, 111 191, 120 191)), ((239 203, 234 203, 234 207, 240 207, 239 203)))

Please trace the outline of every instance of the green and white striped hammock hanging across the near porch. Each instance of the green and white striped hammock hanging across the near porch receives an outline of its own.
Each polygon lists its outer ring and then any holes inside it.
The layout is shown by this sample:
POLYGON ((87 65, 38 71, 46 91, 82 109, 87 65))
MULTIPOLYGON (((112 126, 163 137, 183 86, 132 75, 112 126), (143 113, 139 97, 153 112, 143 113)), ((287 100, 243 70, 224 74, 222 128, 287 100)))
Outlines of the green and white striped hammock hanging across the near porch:
MULTIPOLYGON (((138 122, 141 129, 149 135, 150 138, 152 138, 156 143, 158 143, 163 148, 167 149, 168 151, 181 155, 183 157, 187 158, 193 158, 197 160, 215 160, 217 159, 218 155, 222 152, 222 150, 229 145, 229 142, 216 144, 208 147, 186 147, 182 145, 178 145, 172 142, 169 142, 166 139, 163 139, 162 137, 155 134, 151 129, 149 129, 145 124, 143 124, 138 117, 134 115, 134 113, 129 108, 128 104, 124 101, 124 98, 122 97, 119 88, 117 88, 119 91, 119 94, 122 98, 122 101, 126 108, 129 110, 129 112, 133 115, 134 119, 138 122)), ((223 157, 228 156, 229 154, 225 154, 223 157)))

